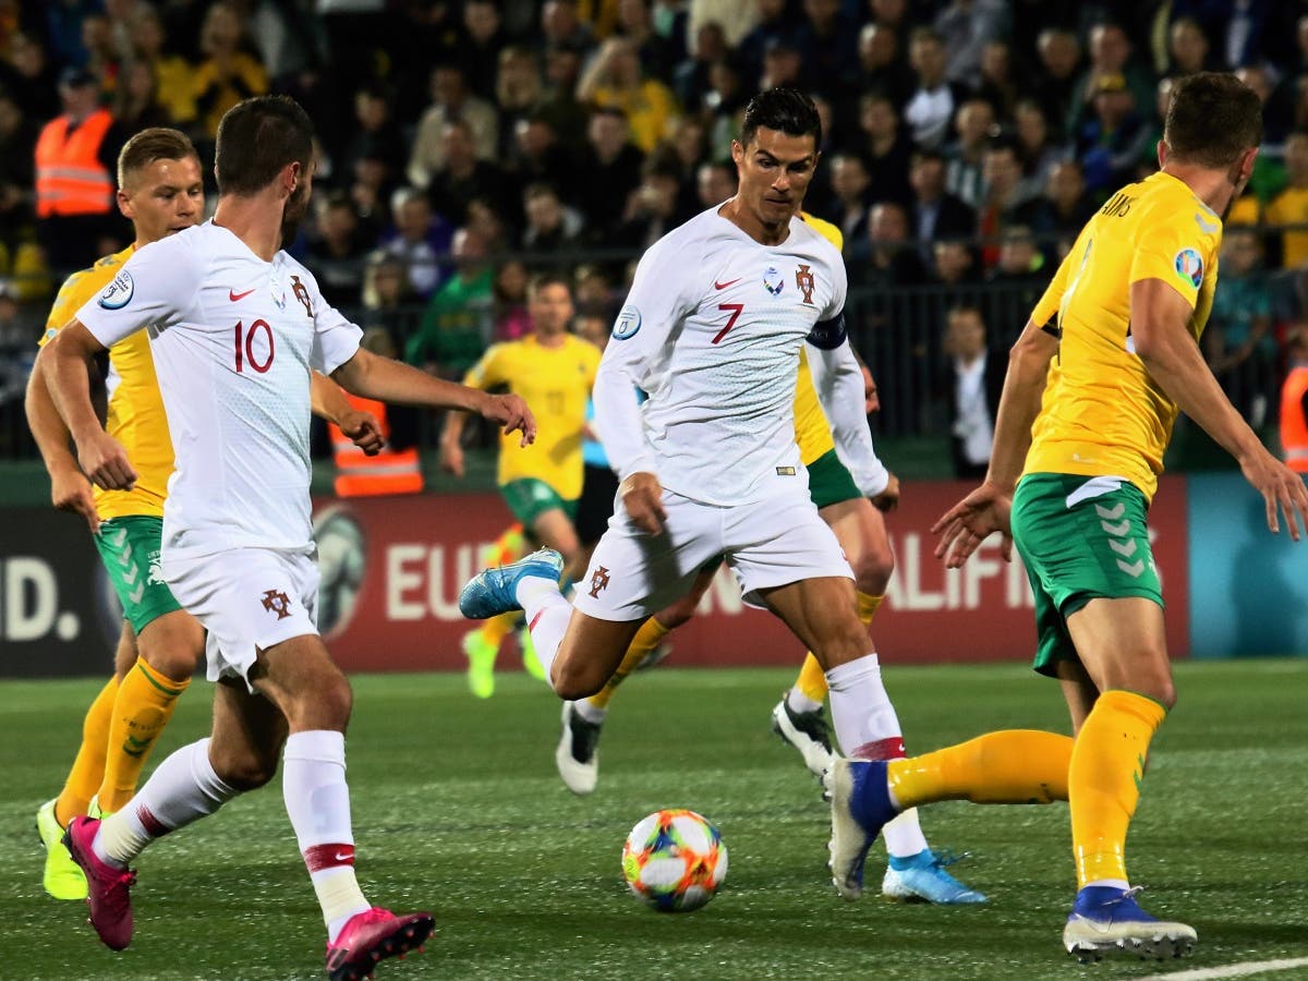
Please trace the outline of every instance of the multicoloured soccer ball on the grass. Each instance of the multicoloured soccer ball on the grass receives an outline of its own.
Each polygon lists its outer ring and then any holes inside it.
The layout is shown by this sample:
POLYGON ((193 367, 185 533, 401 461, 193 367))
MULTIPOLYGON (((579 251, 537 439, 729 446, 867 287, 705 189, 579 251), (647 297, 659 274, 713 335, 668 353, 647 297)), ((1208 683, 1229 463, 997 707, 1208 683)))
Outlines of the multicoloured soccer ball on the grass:
POLYGON ((722 835, 695 811, 668 808, 642 818, 623 845, 623 878, 661 913, 698 909, 727 874, 722 835))

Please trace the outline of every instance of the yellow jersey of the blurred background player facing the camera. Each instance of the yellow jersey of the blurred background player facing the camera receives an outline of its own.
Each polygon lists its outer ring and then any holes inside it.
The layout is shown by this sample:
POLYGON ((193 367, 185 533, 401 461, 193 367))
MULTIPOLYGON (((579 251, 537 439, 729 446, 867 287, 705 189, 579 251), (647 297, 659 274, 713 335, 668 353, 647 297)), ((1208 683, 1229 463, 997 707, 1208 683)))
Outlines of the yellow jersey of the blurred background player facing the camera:
POLYGON ((559 347, 535 336, 496 344, 468 370, 464 385, 489 391, 508 387, 536 417, 536 442, 519 446, 519 433, 500 436, 498 483, 540 480, 565 501, 581 496, 581 443, 586 400, 595 386, 600 352, 590 341, 564 335, 559 347))

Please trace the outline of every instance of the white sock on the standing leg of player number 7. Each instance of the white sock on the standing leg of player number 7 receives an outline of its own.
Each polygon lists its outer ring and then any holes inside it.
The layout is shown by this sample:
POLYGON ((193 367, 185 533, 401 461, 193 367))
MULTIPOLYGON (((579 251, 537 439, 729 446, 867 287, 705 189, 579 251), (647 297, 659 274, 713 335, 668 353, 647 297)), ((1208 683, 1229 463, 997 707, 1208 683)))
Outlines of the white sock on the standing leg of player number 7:
MULTIPOLYGON (((899 760, 904 736, 891 697, 882 684, 875 651, 837 664, 827 672, 831 715, 840 749, 852 760, 899 760)), ((917 811, 904 811, 883 829, 886 850, 897 858, 916 855, 927 846, 917 811)))

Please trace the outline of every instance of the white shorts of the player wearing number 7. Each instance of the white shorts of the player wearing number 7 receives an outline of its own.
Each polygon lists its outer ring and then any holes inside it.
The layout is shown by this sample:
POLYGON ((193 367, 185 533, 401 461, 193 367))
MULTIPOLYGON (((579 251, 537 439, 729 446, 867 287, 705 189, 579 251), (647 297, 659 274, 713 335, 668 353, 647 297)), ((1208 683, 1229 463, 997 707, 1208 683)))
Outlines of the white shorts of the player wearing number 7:
POLYGON ((753 607, 764 607, 760 590, 825 576, 854 578, 807 487, 734 508, 663 490, 663 534, 651 536, 617 502, 586 577, 577 583, 577 610, 598 620, 644 620, 684 596, 700 569, 718 556, 753 607))

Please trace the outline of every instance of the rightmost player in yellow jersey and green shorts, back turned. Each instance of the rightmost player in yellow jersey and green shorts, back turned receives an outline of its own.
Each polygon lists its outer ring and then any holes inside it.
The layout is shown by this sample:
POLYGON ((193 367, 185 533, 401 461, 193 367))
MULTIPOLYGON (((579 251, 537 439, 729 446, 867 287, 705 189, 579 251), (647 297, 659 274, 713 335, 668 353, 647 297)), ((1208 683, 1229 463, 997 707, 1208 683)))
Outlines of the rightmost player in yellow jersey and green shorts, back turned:
POLYGON ((1036 670, 1059 679, 1074 736, 990 732, 889 764, 832 769, 832 870, 853 897, 887 818, 940 799, 1066 799, 1078 892, 1063 946, 1180 956, 1181 922, 1135 903, 1125 845, 1150 742, 1176 702, 1146 511, 1177 409, 1239 462, 1298 540, 1308 490, 1223 395, 1199 353, 1223 216, 1248 183, 1262 112, 1232 75, 1177 82, 1158 157, 1095 215, 1014 347, 985 483, 935 525, 961 565, 990 532, 1015 542, 1036 595, 1036 670))

